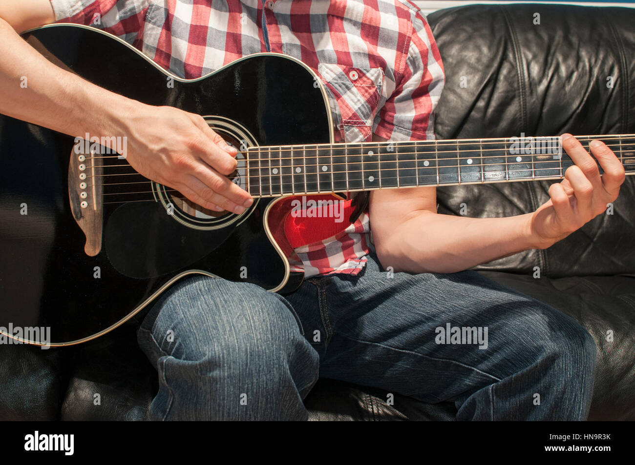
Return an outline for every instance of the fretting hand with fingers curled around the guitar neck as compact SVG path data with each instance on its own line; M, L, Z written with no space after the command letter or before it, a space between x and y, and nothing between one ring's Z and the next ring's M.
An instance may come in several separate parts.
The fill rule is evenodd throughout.
M604 174L571 134L563 134L562 145L573 166L565 179L549 187L549 199L531 216L531 234L541 249L551 246L578 230L606 210L606 204L617 199L624 182L624 167L606 144L591 141L591 153L598 159Z

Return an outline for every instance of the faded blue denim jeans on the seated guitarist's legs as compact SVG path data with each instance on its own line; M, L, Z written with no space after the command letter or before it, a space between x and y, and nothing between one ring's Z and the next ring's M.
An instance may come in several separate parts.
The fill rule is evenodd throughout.
M304 420L319 376L452 401L461 420L582 420L596 363L589 333L551 306L476 272L388 273L374 256L285 297L187 278L138 339L163 420Z

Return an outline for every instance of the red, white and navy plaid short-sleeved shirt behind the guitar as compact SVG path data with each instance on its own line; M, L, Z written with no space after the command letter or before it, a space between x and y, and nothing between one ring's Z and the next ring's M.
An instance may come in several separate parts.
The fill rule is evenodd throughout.
M425 17L401 0L51 0L57 22L103 29L185 79L251 53L291 55L321 77L336 141L434 138L443 65ZM363 213L295 249L305 276L357 274L371 247Z

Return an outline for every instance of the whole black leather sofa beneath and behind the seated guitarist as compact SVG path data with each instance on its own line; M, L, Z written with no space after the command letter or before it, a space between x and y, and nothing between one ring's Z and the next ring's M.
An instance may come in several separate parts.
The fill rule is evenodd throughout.
M437 11L429 22L446 72L439 138L635 133L635 9L475 5ZM547 199L548 187L441 188L439 211L459 214L465 202L469 216L526 213ZM613 215L547 250L478 270L582 323L598 345L589 419L635 419L635 176ZM70 348L0 346L0 374L0 419L143 420L157 390L133 323ZM456 412L450 402L399 395L387 405L386 394L321 379L305 403L316 420L441 420Z

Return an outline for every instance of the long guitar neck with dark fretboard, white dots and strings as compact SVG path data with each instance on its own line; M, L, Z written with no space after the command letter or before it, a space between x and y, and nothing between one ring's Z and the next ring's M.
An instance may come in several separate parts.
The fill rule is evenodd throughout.
M598 139L635 173L635 134L576 136L585 150ZM387 141L250 147L253 197L383 188L556 180L572 159L559 137ZM600 173L603 173L599 167Z

